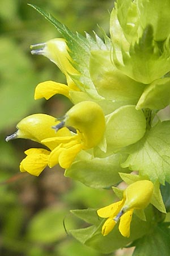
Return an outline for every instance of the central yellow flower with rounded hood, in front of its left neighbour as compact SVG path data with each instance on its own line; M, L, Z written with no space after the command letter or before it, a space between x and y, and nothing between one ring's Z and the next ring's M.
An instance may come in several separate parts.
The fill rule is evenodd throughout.
M58 131L63 126L74 127L76 134L69 137L47 138L41 141L42 143L58 142L58 147L54 148L49 155L49 167L59 163L61 167L67 169L80 150L86 150L99 144L105 130L103 110L95 102L79 102L66 113L64 120L54 126L54 129Z

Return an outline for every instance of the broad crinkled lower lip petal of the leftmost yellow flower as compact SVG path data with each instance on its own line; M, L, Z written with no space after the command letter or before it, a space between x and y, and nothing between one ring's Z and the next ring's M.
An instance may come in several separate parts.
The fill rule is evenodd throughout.
M47 154L31 154L26 156L20 163L20 171L27 171L29 174L39 176L47 165Z

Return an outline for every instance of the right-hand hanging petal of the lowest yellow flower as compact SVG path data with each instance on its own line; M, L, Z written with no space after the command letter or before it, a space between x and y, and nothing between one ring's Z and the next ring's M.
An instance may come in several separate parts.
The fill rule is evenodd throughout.
M133 214L133 209L125 212L120 218L119 231L124 237L130 236L130 222Z

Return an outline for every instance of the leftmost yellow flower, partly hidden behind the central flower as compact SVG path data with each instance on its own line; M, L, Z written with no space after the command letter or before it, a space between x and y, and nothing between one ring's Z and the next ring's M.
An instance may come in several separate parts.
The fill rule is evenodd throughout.
M62 138L71 135L69 129L66 127L56 133L56 131L52 129L52 126L56 125L56 122L59 123L56 118L50 115L29 115L18 123L16 126L17 131L14 134L8 136L6 141L10 141L11 139L16 138L24 138L41 143L41 141L45 138L48 138L48 136L59 136L59 138ZM58 142L52 141L41 144L44 144L49 148L49 150L45 150L44 148L30 148L29 150L26 150L25 154L27 156L20 163L21 172L27 171L29 174L39 176L44 168L48 166L49 154L54 148L58 146Z

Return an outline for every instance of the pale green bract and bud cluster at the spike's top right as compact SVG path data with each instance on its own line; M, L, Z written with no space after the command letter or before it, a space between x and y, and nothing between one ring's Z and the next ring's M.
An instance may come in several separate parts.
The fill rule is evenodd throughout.
M149 84L169 72L168 6L168 0L118 0L112 11L113 62L135 81Z

